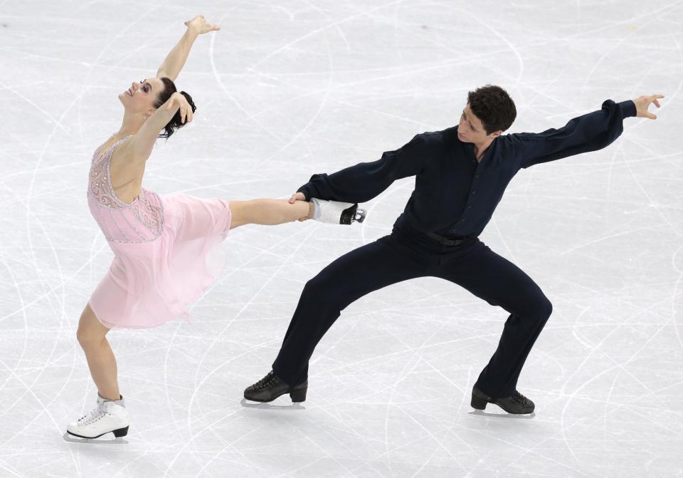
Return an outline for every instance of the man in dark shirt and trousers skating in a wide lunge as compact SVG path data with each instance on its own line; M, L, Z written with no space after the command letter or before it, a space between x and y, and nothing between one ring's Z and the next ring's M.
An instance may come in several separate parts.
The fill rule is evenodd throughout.
M351 302L399 281L434 276L464 287L509 312L498 348L472 388L472 407L494 403L509 413L531 413L534 402L517 391L517 378L552 306L519 267L478 236L505 187L521 168L600 150L623 132L623 118L656 119L663 95L640 96L581 115L559 130L502 135L517 111L499 86L470 91L457 126L423 133L381 159L332 175L313 175L292 199L318 197L366 202L395 180L415 176L415 190L390 235L350 251L309 280L272 370L244 391L270 402L285 393L303 402L313 349Z

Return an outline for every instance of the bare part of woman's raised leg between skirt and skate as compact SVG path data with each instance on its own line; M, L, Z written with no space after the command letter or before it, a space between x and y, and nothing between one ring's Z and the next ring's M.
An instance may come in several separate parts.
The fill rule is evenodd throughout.
M231 201L232 220L230 229L244 224L263 224L272 226L293 222L309 217L311 204L296 201L290 204L287 199L252 199L251 201Z

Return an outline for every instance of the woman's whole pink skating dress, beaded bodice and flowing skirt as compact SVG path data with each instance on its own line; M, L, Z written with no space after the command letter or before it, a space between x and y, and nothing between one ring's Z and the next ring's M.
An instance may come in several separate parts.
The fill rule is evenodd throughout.
M107 328L147 328L174 318L191 321L187 307L221 273L221 242L231 212L222 199L157 194L142 188L130 204L112 187L112 153L97 148L90 166L88 206L115 258L90 297Z

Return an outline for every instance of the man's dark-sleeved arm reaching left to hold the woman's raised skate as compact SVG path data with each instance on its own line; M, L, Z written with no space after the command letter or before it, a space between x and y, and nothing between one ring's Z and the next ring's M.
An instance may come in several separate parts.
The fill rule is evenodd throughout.
M426 136L415 135L398 150L384 152L379 160L361 162L331 175L312 175L309 182L292 194L290 202L295 199L310 200L312 197L354 203L369 201L392 182L418 175L422 171L428 156Z

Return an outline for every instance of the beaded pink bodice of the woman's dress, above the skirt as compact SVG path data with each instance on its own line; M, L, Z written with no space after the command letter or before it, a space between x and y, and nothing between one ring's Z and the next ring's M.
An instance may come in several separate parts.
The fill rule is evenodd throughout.
M117 197L112 187L112 154L129 137L118 140L107 150L99 147L92 155L88 206L107 241L154 241L164 227L164 205L159 195L143 187L139 196L127 204Z

